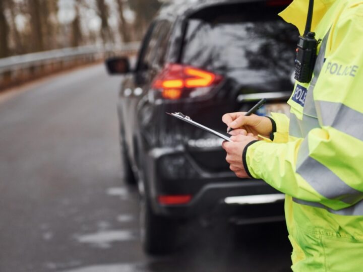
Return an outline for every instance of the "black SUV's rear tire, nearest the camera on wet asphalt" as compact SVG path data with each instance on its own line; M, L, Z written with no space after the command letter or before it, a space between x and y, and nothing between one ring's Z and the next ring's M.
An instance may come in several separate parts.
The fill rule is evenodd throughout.
M172 253L179 245L178 222L155 215L149 201L144 199L140 200L141 240L144 251L151 255Z

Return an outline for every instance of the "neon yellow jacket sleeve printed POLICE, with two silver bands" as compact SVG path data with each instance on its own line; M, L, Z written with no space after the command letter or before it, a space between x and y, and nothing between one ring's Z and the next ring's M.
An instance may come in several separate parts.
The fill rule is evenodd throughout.
M331 29L314 89L320 127L305 139L249 146L244 160L251 176L333 210L363 199L362 44L363 5L358 5L345 10Z

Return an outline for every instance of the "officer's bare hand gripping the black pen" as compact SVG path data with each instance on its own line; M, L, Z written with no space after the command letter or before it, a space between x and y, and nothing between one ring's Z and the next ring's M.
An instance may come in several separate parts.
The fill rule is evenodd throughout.
M248 133L253 133L255 136L258 134L269 138L272 131L271 120L264 116L252 114L245 116L246 112L232 112L226 113L222 117L222 121L230 128L240 128L246 130ZM231 135L241 134L240 131L230 132Z

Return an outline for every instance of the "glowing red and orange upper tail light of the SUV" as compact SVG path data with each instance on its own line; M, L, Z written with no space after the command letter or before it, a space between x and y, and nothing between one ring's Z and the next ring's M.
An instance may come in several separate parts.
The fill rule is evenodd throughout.
M212 72L183 64L167 64L156 77L152 87L161 91L166 99L185 97L196 88L211 87L221 82L222 77Z

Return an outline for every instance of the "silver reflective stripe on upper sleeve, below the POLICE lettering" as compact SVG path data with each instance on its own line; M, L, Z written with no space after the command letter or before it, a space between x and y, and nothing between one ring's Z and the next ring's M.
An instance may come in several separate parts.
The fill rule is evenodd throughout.
M363 141L363 113L342 103L316 101L321 125L332 126Z

